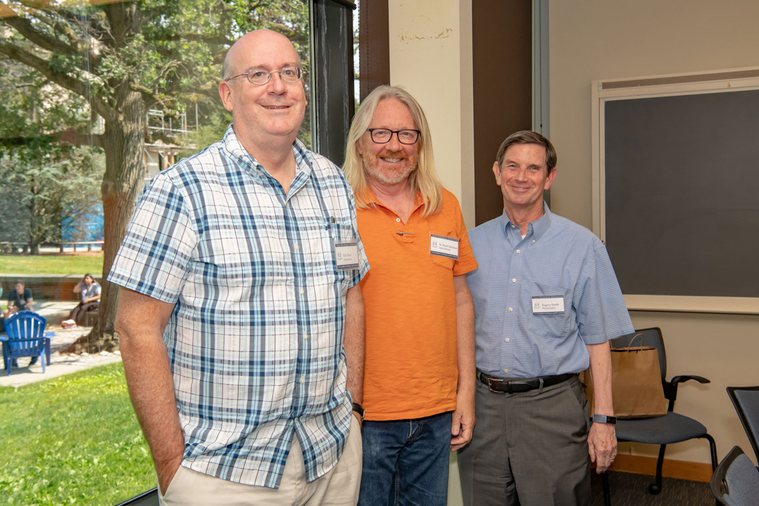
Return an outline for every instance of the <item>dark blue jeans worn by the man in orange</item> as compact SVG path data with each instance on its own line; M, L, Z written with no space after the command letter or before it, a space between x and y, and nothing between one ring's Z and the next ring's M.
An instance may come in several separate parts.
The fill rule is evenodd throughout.
M358 506L446 506L451 413L364 421Z

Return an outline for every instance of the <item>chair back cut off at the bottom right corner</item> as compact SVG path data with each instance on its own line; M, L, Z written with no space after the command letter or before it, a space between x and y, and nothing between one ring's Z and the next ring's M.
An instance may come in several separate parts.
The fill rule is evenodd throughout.
M719 504L756 506L759 501L759 471L738 446L717 466L710 485Z

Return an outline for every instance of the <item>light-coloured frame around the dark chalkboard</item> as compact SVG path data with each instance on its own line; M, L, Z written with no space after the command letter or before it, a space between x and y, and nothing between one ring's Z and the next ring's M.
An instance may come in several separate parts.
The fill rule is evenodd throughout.
M606 240L606 103L702 93L759 90L759 68L632 79L594 80L591 86L593 231ZM641 237L641 244L645 244ZM628 310L759 314L759 297L624 294Z

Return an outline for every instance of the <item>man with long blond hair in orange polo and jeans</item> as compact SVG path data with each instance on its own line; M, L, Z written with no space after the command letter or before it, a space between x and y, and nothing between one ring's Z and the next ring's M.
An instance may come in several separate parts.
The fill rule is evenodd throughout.
M358 504L445 506L449 451L474 426L477 269L455 196L433 165L427 118L379 86L348 133L345 176L371 269L366 316L364 470Z

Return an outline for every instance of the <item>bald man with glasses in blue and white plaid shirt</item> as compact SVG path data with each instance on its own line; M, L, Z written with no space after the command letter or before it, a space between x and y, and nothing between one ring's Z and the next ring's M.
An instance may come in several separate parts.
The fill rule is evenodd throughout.
M150 181L109 276L159 498L355 504L369 266L353 193L295 139L285 36L243 36L222 74L234 123Z

